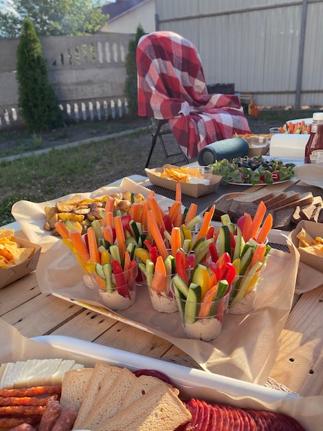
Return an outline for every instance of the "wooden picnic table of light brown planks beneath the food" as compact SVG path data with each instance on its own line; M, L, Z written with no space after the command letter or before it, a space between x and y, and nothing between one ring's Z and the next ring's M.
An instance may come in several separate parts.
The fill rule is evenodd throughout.
M172 191L154 187L149 181L143 185L155 189L156 193L175 197ZM287 185L269 187L283 189ZM301 187L307 191L307 187L297 182L292 182L289 187ZM203 211L214 198L236 190L240 191L241 187L227 188L221 185L216 196L212 193L194 201ZM315 193L321 192L321 189L315 190ZM183 199L183 204L191 201L189 196L183 196ZM15 235L25 238L23 231L17 231ZM279 242L273 245L284 248L284 244ZM282 330L280 350L270 377L299 395L323 395L323 285L296 299ZM192 364L186 353L165 339L54 295L42 293L35 271L0 289L0 317L25 337L65 335L147 357L172 357L173 361L178 359L181 364Z

